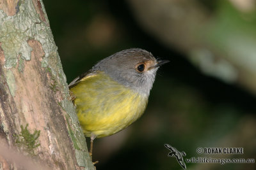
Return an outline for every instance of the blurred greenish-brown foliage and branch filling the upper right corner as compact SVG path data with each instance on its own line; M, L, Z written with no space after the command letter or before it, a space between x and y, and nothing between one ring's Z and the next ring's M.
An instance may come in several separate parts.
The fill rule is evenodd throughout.
M196 0L128 2L145 31L203 73L256 94L255 1L214 1L211 9Z

